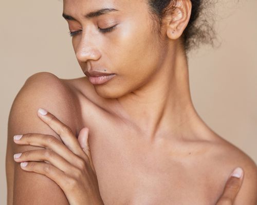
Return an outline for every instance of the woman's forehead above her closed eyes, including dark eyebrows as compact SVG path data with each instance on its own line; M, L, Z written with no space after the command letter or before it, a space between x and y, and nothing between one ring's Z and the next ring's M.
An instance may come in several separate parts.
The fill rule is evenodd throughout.
M136 22L150 22L149 0L63 0L63 17L78 22L94 20L95 17L109 13L119 19ZM104 10L104 11L103 11ZM117 10L111 12L110 10ZM108 14L106 14L108 16ZM97 19L97 18L96 18Z

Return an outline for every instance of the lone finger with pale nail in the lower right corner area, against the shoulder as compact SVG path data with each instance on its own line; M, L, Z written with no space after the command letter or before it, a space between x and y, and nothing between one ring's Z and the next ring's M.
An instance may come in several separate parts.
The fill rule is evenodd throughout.
M240 190L243 182L243 170L236 168L230 175L221 198L216 205L233 205L236 194Z

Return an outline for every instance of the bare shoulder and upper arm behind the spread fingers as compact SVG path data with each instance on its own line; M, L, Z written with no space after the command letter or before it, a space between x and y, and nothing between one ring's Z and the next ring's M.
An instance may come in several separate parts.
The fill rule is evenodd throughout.
M44 108L54 114L76 133L77 122L74 121L76 110L73 103L74 99L69 89L55 75L41 72L29 77L14 99L9 114L8 149L10 150L7 152L6 160L13 160L15 153L44 149L16 145L13 142L14 135L41 133L53 135L61 140L38 117L39 108ZM26 172L21 169L20 163L14 162L13 204L68 204L68 201L57 183L44 175Z

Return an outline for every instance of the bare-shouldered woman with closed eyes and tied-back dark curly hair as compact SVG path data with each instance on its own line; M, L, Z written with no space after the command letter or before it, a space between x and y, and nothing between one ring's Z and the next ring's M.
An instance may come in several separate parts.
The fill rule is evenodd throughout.
M199 6L64 1L86 77L37 73L17 94L8 124L10 204L216 204L236 167L244 181L234 204L256 203L255 163L192 104L187 51ZM39 108L46 111L37 116Z

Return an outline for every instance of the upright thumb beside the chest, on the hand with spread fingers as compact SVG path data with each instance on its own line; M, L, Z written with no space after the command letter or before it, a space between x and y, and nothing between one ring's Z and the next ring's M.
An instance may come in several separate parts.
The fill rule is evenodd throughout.
M85 152L85 154L87 155L91 168L93 170L94 173L96 173L95 167L94 167L94 163L93 163L93 159L91 157L91 152L90 152L90 147L89 147L89 141L88 141L88 134L89 134L89 129L88 128L83 128L80 130L79 136L78 136L78 141L79 144L82 148L82 150Z

